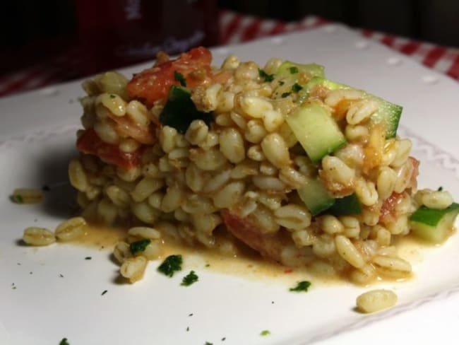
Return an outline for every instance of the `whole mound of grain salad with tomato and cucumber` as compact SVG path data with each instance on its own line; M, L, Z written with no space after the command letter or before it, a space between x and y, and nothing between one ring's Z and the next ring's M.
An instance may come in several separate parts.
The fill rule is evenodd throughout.
M318 64L160 53L131 80L83 83L81 152L69 165L86 221L121 223L121 274L141 279L163 242L366 284L410 276L397 239L440 243L459 204L417 189L402 107L330 81ZM78 222L77 222L78 223Z

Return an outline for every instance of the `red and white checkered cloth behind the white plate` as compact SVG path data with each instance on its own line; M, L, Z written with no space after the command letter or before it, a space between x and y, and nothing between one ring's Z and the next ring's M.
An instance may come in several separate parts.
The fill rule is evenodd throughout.
M266 36L308 30L327 23L330 23L330 21L316 16L307 16L302 21L286 23L222 10L219 16L220 45L230 45ZM359 30L359 32L364 37L376 40L398 52L407 54L425 66L459 81L459 49L441 47L376 31ZM0 96L81 77L77 73L78 69L75 68L77 65L78 49L71 49L46 64L30 66L28 69L3 76L0 78Z

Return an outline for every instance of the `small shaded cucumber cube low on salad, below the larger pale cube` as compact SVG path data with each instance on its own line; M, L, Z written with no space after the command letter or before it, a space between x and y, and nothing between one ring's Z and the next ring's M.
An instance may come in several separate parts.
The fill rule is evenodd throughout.
M304 187L297 189L299 197L313 216L329 209L335 199L320 180L309 178Z

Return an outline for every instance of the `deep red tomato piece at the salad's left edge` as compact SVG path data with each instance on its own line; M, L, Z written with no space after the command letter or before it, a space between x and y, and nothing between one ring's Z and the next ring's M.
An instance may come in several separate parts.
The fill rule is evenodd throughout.
M134 168L141 162L141 151L126 153L117 145L107 144L97 136L94 129L87 129L76 141L78 151L99 157L105 163L118 165L122 168Z

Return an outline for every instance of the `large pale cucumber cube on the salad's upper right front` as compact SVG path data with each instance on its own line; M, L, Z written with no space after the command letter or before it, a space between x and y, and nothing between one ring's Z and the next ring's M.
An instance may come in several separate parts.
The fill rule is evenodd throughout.
M313 163L346 144L335 119L319 103L301 105L286 121Z

